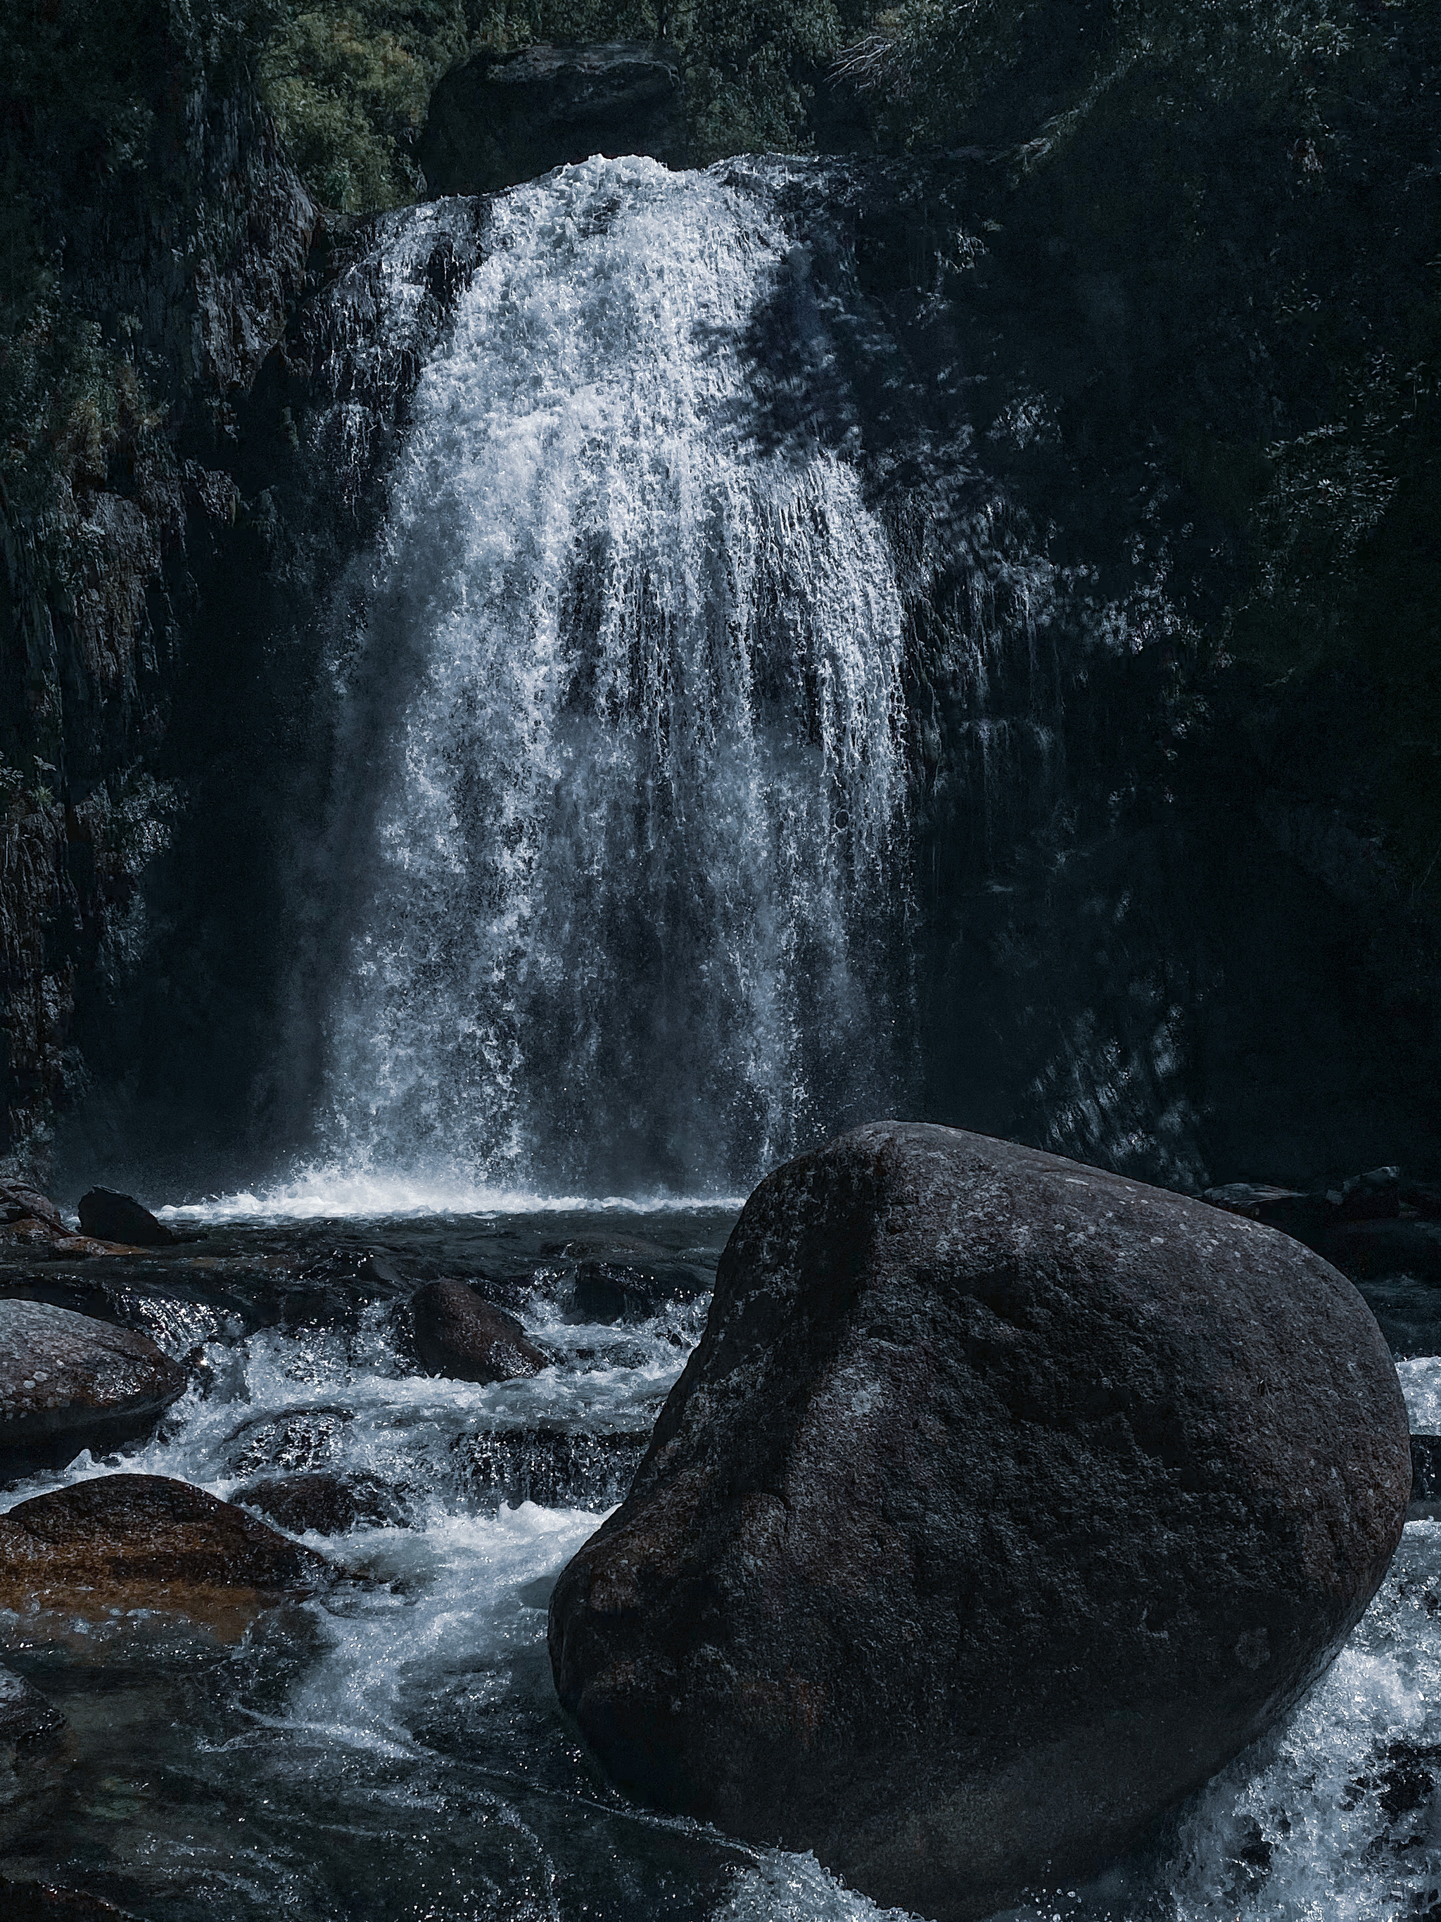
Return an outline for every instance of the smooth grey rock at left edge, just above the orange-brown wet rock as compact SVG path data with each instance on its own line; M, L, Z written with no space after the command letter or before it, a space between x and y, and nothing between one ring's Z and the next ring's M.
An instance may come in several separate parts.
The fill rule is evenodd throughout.
M0 1474L63 1466L148 1434L188 1368L136 1328L0 1301Z

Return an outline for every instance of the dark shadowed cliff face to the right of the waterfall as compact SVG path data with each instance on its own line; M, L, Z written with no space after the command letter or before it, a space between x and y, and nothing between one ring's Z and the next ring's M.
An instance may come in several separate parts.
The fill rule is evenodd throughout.
M1364 21L1320 146L1137 77L797 183L911 557L936 1119L1176 1186L1441 1155L1435 62Z

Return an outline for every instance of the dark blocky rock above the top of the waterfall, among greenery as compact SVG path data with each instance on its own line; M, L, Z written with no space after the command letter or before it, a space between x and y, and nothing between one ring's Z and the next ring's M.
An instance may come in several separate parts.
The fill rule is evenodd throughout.
M476 54L438 83L419 160L432 194L490 194L592 154L684 165L680 63L663 42Z

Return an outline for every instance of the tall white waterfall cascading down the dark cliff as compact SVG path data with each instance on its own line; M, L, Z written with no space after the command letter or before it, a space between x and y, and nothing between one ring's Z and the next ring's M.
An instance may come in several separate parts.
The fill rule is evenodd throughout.
M765 173L498 202L338 667L336 1161L734 1192L895 1101L901 605L853 467L769 431L778 304L824 354Z

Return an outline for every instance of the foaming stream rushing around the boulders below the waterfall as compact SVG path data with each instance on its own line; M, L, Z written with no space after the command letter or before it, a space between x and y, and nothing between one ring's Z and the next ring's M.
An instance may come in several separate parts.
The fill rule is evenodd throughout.
M402 1270L484 1276L559 1359L494 1388L427 1380L382 1301L344 1326L231 1328L208 1343L208 1392L154 1442L10 1491L127 1468L232 1497L261 1474L319 1470L384 1488L392 1520L304 1536L363 1580L269 1611L232 1647L142 1616L6 1618L6 1659L65 1711L69 1749L38 1797L0 1807L4 1868L146 1922L874 1922L809 1857L628 1807L551 1691L551 1582L623 1493L705 1297L642 1324L576 1322L567 1257L544 1249L609 1236L707 1272L730 1219L611 1207L206 1230L213 1261L288 1247L304 1267L346 1242ZM179 1315L167 1340L194 1334ZM1441 1363L1406 1363L1403 1380L1429 1424ZM1282 1730L1105 1885L1014 1914L1441 1922L1439 1568L1441 1524L1410 1524Z

